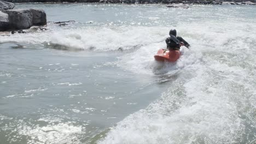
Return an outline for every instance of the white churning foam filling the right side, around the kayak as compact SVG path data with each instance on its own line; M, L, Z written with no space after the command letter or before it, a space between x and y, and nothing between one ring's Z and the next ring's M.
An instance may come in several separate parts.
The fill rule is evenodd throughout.
M253 23L247 25L256 29ZM166 67L167 73L181 68L178 78L159 100L127 116L98 143L253 143L256 137L249 131L256 130L255 31L241 23L190 26L191 31L183 25L178 29L188 35L193 52L185 51ZM149 74L152 67L145 64L152 59L139 54L153 56L153 47L160 46L150 44L125 55L119 66Z

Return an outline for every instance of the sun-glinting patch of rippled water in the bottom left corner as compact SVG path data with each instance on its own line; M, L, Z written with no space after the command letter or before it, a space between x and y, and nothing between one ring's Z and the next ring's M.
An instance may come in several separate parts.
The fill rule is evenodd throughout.
M66 121L56 116L42 116L37 120L30 118L9 118L0 115L2 127L0 130L8 132L5 138L10 143L24 142L28 144L39 143L70 143L80 144L85 137L85 125L75 121ZM1 133L1 132L0 132ZM22 143L23 143L22 142Z

